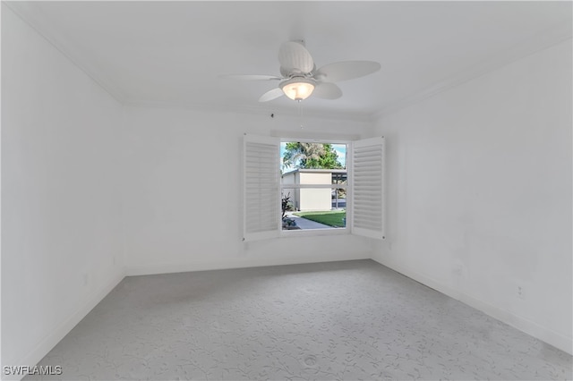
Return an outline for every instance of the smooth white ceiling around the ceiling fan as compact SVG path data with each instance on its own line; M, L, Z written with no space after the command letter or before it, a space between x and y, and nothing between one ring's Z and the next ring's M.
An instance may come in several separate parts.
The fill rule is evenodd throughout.
M372 60L304 112L368 118L571 38L571 2L10 2L126 105L295 112L257 99L278 47L304 39L318 67Z

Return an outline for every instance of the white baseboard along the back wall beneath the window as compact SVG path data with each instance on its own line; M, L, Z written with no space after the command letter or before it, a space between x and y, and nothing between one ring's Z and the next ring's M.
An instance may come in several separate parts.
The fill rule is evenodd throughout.
M225 270L228 268L244 267L264 267L281 265L298 265L304 263L335 262L341 260L371 259L371 252L358 253L353 255L335 256L332 258L309 257L304 258L244 258L243 260L225 260L217 262L189 262L189 263L158 263L142 266L128 266L125 269L125 276L154 275L169 273L186 273L192 271Z

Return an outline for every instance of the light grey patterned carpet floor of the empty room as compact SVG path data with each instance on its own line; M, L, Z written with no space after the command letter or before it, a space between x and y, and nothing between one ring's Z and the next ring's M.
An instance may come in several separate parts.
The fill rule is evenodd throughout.
M372 260L126 277L39 362L69 380L571 379L571 356Z

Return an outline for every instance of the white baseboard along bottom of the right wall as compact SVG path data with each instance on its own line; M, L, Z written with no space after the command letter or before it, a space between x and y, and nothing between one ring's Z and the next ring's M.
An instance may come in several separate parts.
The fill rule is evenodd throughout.
M530 334L535 338L543 341L544 343L551 344L552 346L559 348L561 351L566 351L569 354L573 354L573 338L568 337L564 334L553 331L545 326L540 326L537 323L528 320L526 318L519 317L514 313L506 309L500 309L498 307L492 306L485 301L480 301L474 297L467 295L463 292L459 292L456 289L452 289L445 284L440 284L436 280L415 272L412 269L402 267L396 263L389 260L381 260L380 258L372 258L376 262L383 266L389 267L392 270L398 271L402 275L406 275L409 278L414 279L416 282L425 284L428 287L448 295L450 298L456 299L467 304L470 307L479 309L483 313L496 318L509 326L513 326L518 330Z

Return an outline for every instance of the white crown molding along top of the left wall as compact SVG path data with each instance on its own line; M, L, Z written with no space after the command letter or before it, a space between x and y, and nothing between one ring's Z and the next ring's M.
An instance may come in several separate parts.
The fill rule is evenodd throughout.
M74 45L68 38L65 38L63 34L51 26L43 13L41 13L33 2L3 1L2 4L6 5L22 21L28 24L30 28L36 30L38 34L45 38L53 47L56 47L62 55L76 65L102 89L106 90L117 102L121 104L124 103L124 92L119 89L112 80L109 80L96 65L82 58L81 47Z

